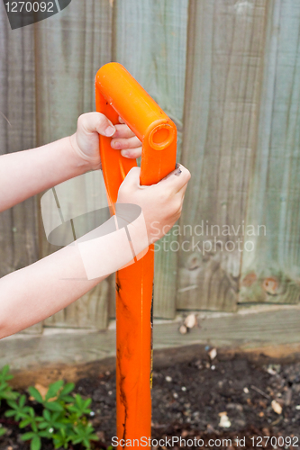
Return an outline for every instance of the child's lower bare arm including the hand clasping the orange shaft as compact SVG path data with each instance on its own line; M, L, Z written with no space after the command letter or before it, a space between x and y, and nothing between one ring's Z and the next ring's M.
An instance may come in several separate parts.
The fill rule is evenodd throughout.
M143 213L142 220L133 222L130 231L136 253L166 234L179 218L189 178L190 174L183 166L158 184L147 187L140 185L138 167L132 168L126 176L119 190L118 202L133 202L141 207ZM147 231L146 245L143 224ZM109 242L106 237L97 240L93 230L86 237L94 237L94 240L80 238L32 266L0 279L0 338L50 317L129 263L132 252L129 251L126 232L108 236ZM84 257L80 247L82 241L92 244L85 250ZM88 280L86 262L87 266L97 267L96 278Z

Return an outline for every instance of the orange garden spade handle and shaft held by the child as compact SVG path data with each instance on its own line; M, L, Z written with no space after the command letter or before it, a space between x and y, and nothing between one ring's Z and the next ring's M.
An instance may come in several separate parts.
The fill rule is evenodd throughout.
M121 116L142 142L141 185L158 183L176 166L177 130L158 103L118 63L101 67L95 76L96 110L114 124ZM100 136L100 154L108 202L114 203L134 159L122 157ZM154 248L116 274L116 401L119 448L135 446L151 433L152 289ZM141 440L141 438L143 438ZM124 439L121 441L121 439ZM121 441L121 443L120 443ZM133 444L132 444L133 445Z

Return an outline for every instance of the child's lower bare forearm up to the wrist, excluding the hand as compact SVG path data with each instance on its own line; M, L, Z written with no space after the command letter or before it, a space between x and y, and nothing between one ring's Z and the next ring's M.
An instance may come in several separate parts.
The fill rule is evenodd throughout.
M109 221L114 227L114 218ZM131 236L135 248L143 250L139 224L132 227ZM66 308L130 261L132 248L125 229L103 235L99 227L32 266L6 275L0 280L0 338Z

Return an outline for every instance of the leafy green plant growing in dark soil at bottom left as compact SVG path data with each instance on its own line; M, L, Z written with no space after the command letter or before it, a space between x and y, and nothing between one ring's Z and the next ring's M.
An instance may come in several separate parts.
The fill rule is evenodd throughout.
M74 383L65 384L62 380L52 383L44 397L35 387L28 388L33 401L42 407L39 416L32 406L26 404L24 394L20 396L9 388L6 382L12 379L12 375L8 372L9 367L5 366L0 373L0 383L5 384L5 389L0 392L6 392L1 398L10 407L5 416L19 422L19 428L31 428L22 435L24 441L31 441L31 450L41 449L41 438L52 440L54 448L68 449L70 442L81 444L88 450L92 448L92 441L98 440L98 437L86 417L91 412L88 408L91 399L83 399L79 394L71 395ZM5 434L4 429L0 428L0 436Z

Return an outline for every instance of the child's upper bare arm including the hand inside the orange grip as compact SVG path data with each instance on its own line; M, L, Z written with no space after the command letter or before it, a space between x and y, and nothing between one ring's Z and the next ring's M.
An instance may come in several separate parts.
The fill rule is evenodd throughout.
M88 112L79 117L74 135L0 157L0 211L100 168L99 134L114 136L112 147L133 152L129 157L141 156L141 142L126 125L114 127L100 112Z

